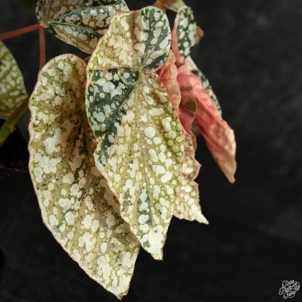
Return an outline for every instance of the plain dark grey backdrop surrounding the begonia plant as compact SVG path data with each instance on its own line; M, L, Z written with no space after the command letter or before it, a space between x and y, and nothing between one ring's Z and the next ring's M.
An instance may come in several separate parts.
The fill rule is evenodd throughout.
M16 0L0 3L0 33L36 23ZM151 4L127 3L130 9ZM302 3L186 3L205 32L192 57L235 131L236 183L228 183L199 137L200 200L210 224L173 218L165 261L141 249L123 300L282 301L283 280L302 282ZM31 93L39 68L38 32L5 42ZM46 49L47 60L64 52L86 56L48 33ZM2 242L8 266L0 301L116 301L53 240L32 191L4 191L1 202L13 195L21 206ZM292 298L301 299L302 290Z

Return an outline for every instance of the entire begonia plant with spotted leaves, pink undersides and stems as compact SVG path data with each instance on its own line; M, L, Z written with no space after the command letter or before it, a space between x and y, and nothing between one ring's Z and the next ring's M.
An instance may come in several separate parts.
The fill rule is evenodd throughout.
M171 30L166 15L175 13ZM182 0L39 0L41 69L27 96L0 42L0 144L29 108L29 171L43 222L80 267L122 298L142 247L157 260L172 216L208 223L195 179L201 134L230 182L234 131L190 56L203 35ZM89 57L44 64L44 28Z

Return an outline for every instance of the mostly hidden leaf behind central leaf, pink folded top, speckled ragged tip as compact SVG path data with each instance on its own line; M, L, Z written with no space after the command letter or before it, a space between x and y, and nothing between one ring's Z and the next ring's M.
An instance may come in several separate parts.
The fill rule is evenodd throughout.
M194 182L200 169L200 164L195 160L196 137L191 132L192 119L195 118L196 100L189 83L188 70L183 68L185 66L177 68L174 62L175 56L170 52L165 65L158 70L158 74L175 106L175 110L183 119L181 119L181 122L184 129L188 127L188 131L185 131L185 155L182 167L181 187L175 201L174 215L180 219L197 220L199 222L208 223L201 213L198 184ZM180 81L179 85L178 81ZM181 99L182 101L180 101ZM186 114L187 111L191 111L185 106L190 100L195 104L195 111L193 110L191 112L193 116L190 116L190 114L187 116ZM182 102L183 105L181 105ZM189 120L189 122L187 120Z

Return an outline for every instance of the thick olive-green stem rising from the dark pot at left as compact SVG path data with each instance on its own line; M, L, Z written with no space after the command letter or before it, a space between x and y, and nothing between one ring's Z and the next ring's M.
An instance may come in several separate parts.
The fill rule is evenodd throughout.
M11 114L11 116L5 121L0 128L0 148L9 135L14 132L17 123L28 111L29 96L23 101L23 103Z

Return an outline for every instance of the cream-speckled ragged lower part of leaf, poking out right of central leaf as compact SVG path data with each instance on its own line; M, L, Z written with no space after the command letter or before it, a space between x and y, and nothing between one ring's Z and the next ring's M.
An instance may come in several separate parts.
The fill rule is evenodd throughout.
M201 165L195 159L196 138L185 134L185 156L182 168L182 180L174 207L174 215L180 219L197 220L208 224L201 213L198 184L194 181Z

